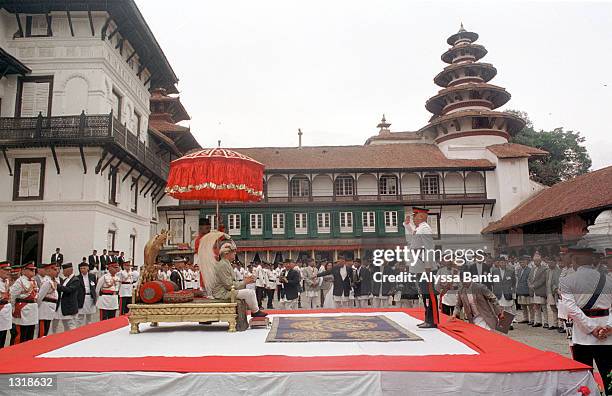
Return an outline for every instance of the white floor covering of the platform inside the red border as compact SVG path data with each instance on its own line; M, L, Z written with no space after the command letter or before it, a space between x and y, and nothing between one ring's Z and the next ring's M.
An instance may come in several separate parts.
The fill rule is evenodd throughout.
M437 329L421 330L420 321L403 312L298 314L291 316L384 315L423 341L398 342L283 342L266 343L268 329L228 333L220 326L197 323L142 324L140 334L129 334L129 327L76 342L45 353L41 357L144 357L144 356L350 356L350 355L472 355L477 352ZM270 315L272 319L274 315ZM222 325L223 326L223 325ZM227 327L227 325L225 325ZM171 340L169 339L171 337ZM168 344L172 348L168 348Z

